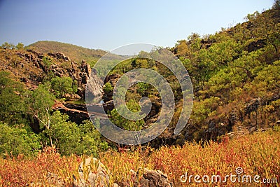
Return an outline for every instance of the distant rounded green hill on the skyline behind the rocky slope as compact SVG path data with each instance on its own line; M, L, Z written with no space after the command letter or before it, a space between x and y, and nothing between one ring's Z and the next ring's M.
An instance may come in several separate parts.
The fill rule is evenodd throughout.
M82 60L92 64L96 62L102 55L106 54L104 50L94 50L89 48L83 48L69 43L62 43L58 41L37 41L28 46L29 48L36 50L39 53L64 53L64 55L71 58L78 63Z

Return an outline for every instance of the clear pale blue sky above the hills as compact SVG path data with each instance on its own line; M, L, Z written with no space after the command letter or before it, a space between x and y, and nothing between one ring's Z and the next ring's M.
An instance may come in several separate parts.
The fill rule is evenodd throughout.
M172 47L192 32L214 34L273 0L0 0L0 43L39 40L112 50L128 43Z

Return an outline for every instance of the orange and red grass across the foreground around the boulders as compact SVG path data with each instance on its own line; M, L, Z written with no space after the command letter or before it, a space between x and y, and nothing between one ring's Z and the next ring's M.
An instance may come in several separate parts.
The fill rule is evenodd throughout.
M111 171L112 181L125 180L132 183L130 169L137 171L139 167L158 169L168 174L174 186L279 186L280 182L280 131L258 132L229 139L223 137L221 143L214 141L201 146L186 143L183 147L164 146L159 150L137 148L135 151L107 151L101 153L99 159ZM23 156L0 158L0 186L51 186L48 172L71 186L73 175L78 176L78 164L82 157L61 156L54 148L45 148L34 158ZM252 183L232 183L230 178L223 183L226 175L235 175L236 168L241 167L240 174L251 175ZM186 183L180 181L182 175L188 173ZM189 176L193 175L193 178ZM200 175L201 183L195 183L194 176ZM202 176L209 176L209 183L203 183ZM221 183L211 183L212 175L220 175ZM253 176L262 179L276 179L278 183L255 183ZM184 178L182 178L184 179ZM207 178L204 177L207 181ZM270 180L271 182L273 180ZM275 182L275 180L274 180Z

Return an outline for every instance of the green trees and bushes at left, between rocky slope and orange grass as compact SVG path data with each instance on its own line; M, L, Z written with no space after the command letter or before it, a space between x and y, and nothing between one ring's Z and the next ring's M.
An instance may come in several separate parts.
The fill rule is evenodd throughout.
M108 147L90 120L77 125L69 121L66 114L52 111L55 99L75 90L71 78L51 78L36 90L27 90L22 83L10 78L10 74L1 71L0 86L2 156L7 153L32 155L44 146L55 146L62 155L97 155ZM31 127L35 119L40 123L36 133Z

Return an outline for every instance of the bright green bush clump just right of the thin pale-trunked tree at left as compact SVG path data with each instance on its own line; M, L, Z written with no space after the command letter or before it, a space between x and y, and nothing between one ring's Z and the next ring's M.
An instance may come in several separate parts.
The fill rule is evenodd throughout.
M59 111L52 113L50 127L43 133L52 140L48 144L55 146L62 155L76 153L97 156L97 153L109 148L90 120L78 126L69 121L69 116Z

